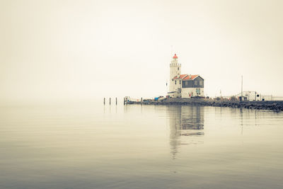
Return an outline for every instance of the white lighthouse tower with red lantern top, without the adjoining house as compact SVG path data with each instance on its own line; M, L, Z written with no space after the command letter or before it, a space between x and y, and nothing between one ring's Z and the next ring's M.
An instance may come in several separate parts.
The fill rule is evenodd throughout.
M178 63L178 57L175 54L171 64L170 64L170 82L169 82L169 96L173 96L175 92L177 92L178 87L177 84L175 84L175 80L173 79L175 76L180 76L181 73L181 64Z

